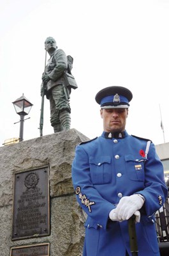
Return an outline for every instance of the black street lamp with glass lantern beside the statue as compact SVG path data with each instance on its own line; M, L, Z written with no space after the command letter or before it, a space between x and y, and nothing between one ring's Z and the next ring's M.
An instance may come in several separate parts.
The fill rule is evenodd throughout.
M33 104L26 99L24 96L24 93L20 98L17 100L13 101L13 106L15 108L15 111L17 112L18 115L20 115L20 134L19 134L19 141L23 141L23 134L24 134L24 120L29 119L26 118L24 119L24 116L29 114L29 111L31 110ZM16 123L15 123L16 124Z

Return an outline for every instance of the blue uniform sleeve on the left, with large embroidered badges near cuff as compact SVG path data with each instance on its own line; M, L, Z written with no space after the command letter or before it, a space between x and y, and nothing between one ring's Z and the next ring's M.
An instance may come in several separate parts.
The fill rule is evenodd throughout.
M105 200L91 182L89 156L82 146L77 146L72 164L72 180L77 200L82 209L99 225L106 228L109 212L115 208Z

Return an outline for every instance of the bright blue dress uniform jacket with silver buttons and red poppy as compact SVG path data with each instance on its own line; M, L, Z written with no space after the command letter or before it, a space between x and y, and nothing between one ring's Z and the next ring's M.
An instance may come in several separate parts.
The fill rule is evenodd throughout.
M109 212L122 196L140 193L145 197L140 223L136 224L138 256L159 256L154 213L168 193L163 165L151 143L130 136L98 138L81 143L72 164L77 200L87 213L84 256L125 256L129 248L128 221L111 221Z

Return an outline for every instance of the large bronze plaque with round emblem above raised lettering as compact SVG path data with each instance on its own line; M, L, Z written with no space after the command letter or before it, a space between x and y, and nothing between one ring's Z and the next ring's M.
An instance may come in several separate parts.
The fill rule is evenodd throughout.
M48 168L15 173L12 240L48 236Z

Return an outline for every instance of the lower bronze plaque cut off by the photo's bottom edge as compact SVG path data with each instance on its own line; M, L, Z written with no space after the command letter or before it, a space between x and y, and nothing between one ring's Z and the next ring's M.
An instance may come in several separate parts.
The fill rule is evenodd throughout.
M49 243L18 246L11 248L10 256L48 256Z

